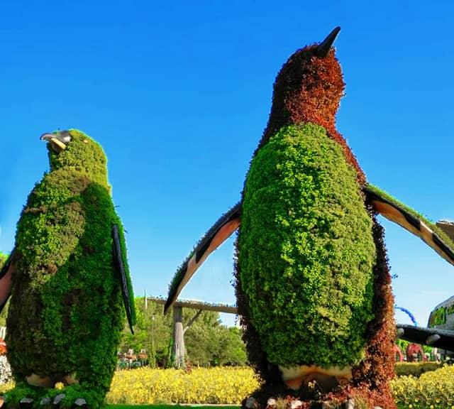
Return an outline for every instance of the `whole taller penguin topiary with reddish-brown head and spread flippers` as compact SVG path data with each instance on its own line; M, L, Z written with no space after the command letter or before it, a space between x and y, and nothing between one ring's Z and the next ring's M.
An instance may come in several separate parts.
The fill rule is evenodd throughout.
M166 310L233 231L236 297L250 362L265 380L248 407L300 398L304 408L393 409L395 324L383 214L450 263L453 244L376 187L336 130L345 87L331 45L297 50L277 75L267 128L242 200L197 244ZM443 237L443 238L442 238Z

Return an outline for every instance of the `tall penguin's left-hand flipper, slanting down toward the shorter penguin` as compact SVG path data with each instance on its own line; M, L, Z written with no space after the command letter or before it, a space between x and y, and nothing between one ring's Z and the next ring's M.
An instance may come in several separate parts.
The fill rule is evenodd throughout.
M211 252L221 246L228 237L233 234L240 226L241 203L237 203L226 214L218 219L218 221L209 229L209 231L201 238L195 249L189 254L187 259L182 263L177 273L170 283L169 295L165 302L164 312L167 312L169 307L177 300L184 285L194 275L197 268L201 266Z

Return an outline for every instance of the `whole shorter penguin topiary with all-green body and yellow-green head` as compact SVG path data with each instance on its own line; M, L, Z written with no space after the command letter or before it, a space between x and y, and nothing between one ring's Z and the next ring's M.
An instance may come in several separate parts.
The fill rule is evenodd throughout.
M131 330L135 320L123 227L101 146L74 129L41 139L50 172L28 196L1 274L11 279L6 343L17 381L5 399L9 408L23 398L98 408L116 368L123 303Z

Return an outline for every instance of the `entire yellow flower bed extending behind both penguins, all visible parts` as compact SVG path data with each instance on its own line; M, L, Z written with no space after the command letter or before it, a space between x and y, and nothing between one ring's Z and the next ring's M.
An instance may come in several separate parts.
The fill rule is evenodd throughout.
M13 383L0 386L4 393ZM157 403L209 403L239 405L260 386L248 367L217 366L179 369L140 368L117 371L107 402L140 405ZM400 409L454 409L454 366L422 373L419 378L400 376L392 381L394 400Z

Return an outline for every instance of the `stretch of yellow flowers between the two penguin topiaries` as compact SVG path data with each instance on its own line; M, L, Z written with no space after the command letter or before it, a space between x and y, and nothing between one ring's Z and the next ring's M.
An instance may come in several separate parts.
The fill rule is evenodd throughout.
M111 404L225 403L238 405L260 385L248 367L117 371L107 395Z

